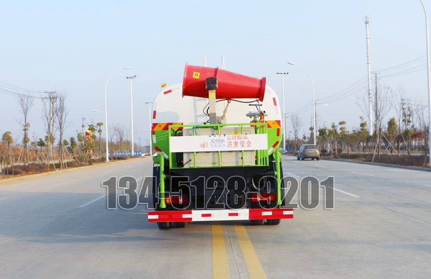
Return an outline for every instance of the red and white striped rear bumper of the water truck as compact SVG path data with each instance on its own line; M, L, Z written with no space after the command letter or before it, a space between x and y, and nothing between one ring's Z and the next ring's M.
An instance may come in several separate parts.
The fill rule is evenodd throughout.
M148 222L291 219L292 208L149 211Z

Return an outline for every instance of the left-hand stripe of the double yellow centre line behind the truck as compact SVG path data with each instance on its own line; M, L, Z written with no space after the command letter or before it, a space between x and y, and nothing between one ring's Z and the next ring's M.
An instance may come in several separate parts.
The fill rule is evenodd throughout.
M226 255L221 225L211 225L211 235L213 241L213 278L229 279L228 256Z

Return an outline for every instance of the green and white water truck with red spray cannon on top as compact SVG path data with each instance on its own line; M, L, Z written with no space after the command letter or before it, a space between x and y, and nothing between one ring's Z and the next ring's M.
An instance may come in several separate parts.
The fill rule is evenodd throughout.
M280 104L265 78L186 64L183 83L158 93L152 118L149 222L293 218L283 207Z

